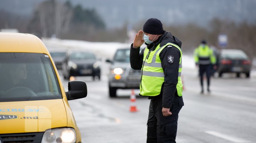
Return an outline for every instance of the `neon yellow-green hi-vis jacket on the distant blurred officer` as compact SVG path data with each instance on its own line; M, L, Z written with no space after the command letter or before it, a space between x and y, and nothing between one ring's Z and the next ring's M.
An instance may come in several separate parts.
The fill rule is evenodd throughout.
M213 50L209 48L209 46L205 45L199 46L194 51L194 60L197 64L207 65L207 64L215 64L216 57L213 54Z

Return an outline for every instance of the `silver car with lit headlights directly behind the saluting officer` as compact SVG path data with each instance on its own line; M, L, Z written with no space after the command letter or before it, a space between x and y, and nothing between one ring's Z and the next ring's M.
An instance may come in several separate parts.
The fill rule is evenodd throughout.
M141 70L134 70L130 67L130 48L117 49L111 63L108 76L109 96L116 97L117 89L139 88Z

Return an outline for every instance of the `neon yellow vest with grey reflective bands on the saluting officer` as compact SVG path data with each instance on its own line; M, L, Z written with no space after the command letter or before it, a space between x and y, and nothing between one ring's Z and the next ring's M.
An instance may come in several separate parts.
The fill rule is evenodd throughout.
M161 92L162 84L164 83L164 70L162 69L161 59L159 57L160 52L167 48L167 45L171 45L172 48L178 48L180 50L180 62L178 69L178 83L176 86L178 96L182 96L182 52L181 48L173 43L167 43L160 47L160 44L154 51L149 51L146 47L144 50L143 65L142 65L142 77L140 81L140 95L142 96L157 96Z

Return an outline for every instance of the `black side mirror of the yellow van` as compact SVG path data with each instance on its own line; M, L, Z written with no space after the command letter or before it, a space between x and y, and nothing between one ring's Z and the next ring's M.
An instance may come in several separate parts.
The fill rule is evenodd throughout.
M87 86L84 81L74 80L68 83L68 92L66 97L68 100L84 98L87 96Z

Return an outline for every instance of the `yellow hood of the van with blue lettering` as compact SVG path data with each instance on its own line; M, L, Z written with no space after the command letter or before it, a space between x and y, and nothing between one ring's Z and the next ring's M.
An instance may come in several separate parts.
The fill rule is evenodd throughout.
M0 102L2 133L44 132L67 125L62 99Z

